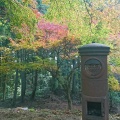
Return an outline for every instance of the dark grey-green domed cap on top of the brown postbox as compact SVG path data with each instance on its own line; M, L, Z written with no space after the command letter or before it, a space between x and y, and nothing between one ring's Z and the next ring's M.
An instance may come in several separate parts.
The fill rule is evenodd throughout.
M79 48L80 55L108 55L109 52L110 47L99 43L91 43Z

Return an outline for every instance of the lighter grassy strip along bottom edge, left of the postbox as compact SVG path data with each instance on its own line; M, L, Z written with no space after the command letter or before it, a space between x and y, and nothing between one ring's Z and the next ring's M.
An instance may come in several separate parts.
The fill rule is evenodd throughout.
M78 111L0 109L0 120L80 120Z

